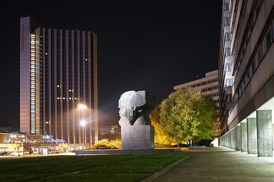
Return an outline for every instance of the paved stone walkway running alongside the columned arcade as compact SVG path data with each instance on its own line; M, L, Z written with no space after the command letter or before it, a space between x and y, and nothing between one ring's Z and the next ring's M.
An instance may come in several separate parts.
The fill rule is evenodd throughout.
M191 150L195 154L152 182L274 181L274 157L257 157L225 147Z

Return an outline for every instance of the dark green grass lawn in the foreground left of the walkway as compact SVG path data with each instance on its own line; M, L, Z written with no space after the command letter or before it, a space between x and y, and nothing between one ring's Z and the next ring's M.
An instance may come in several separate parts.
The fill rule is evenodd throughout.
M47 156L0 162L0 181L138 182L191 152Z

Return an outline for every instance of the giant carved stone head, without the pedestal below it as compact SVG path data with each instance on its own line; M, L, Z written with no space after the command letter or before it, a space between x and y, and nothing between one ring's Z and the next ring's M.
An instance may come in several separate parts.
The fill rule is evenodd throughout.
M156 96L134 90L125 92L119 99L119 125L150 125L149 114L156 106Z

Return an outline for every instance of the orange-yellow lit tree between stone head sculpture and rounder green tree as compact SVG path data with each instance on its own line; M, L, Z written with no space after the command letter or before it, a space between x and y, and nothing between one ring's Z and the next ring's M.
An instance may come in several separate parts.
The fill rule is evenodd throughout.
M172 144L174 145L175 140L168 137L160 125L160 107L157 105L154 110L151 111L149 118L151 120L151 125L154 126L154 130L156 135L154 137L155 144L159 147L170 147Z

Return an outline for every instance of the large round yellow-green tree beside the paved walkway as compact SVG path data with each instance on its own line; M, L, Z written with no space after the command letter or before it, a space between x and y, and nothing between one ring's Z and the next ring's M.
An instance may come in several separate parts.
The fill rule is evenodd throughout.
M160 105L160 125L163 132L176 142L210 139L217 120L217 106L200 90L184 88L169 95Z

